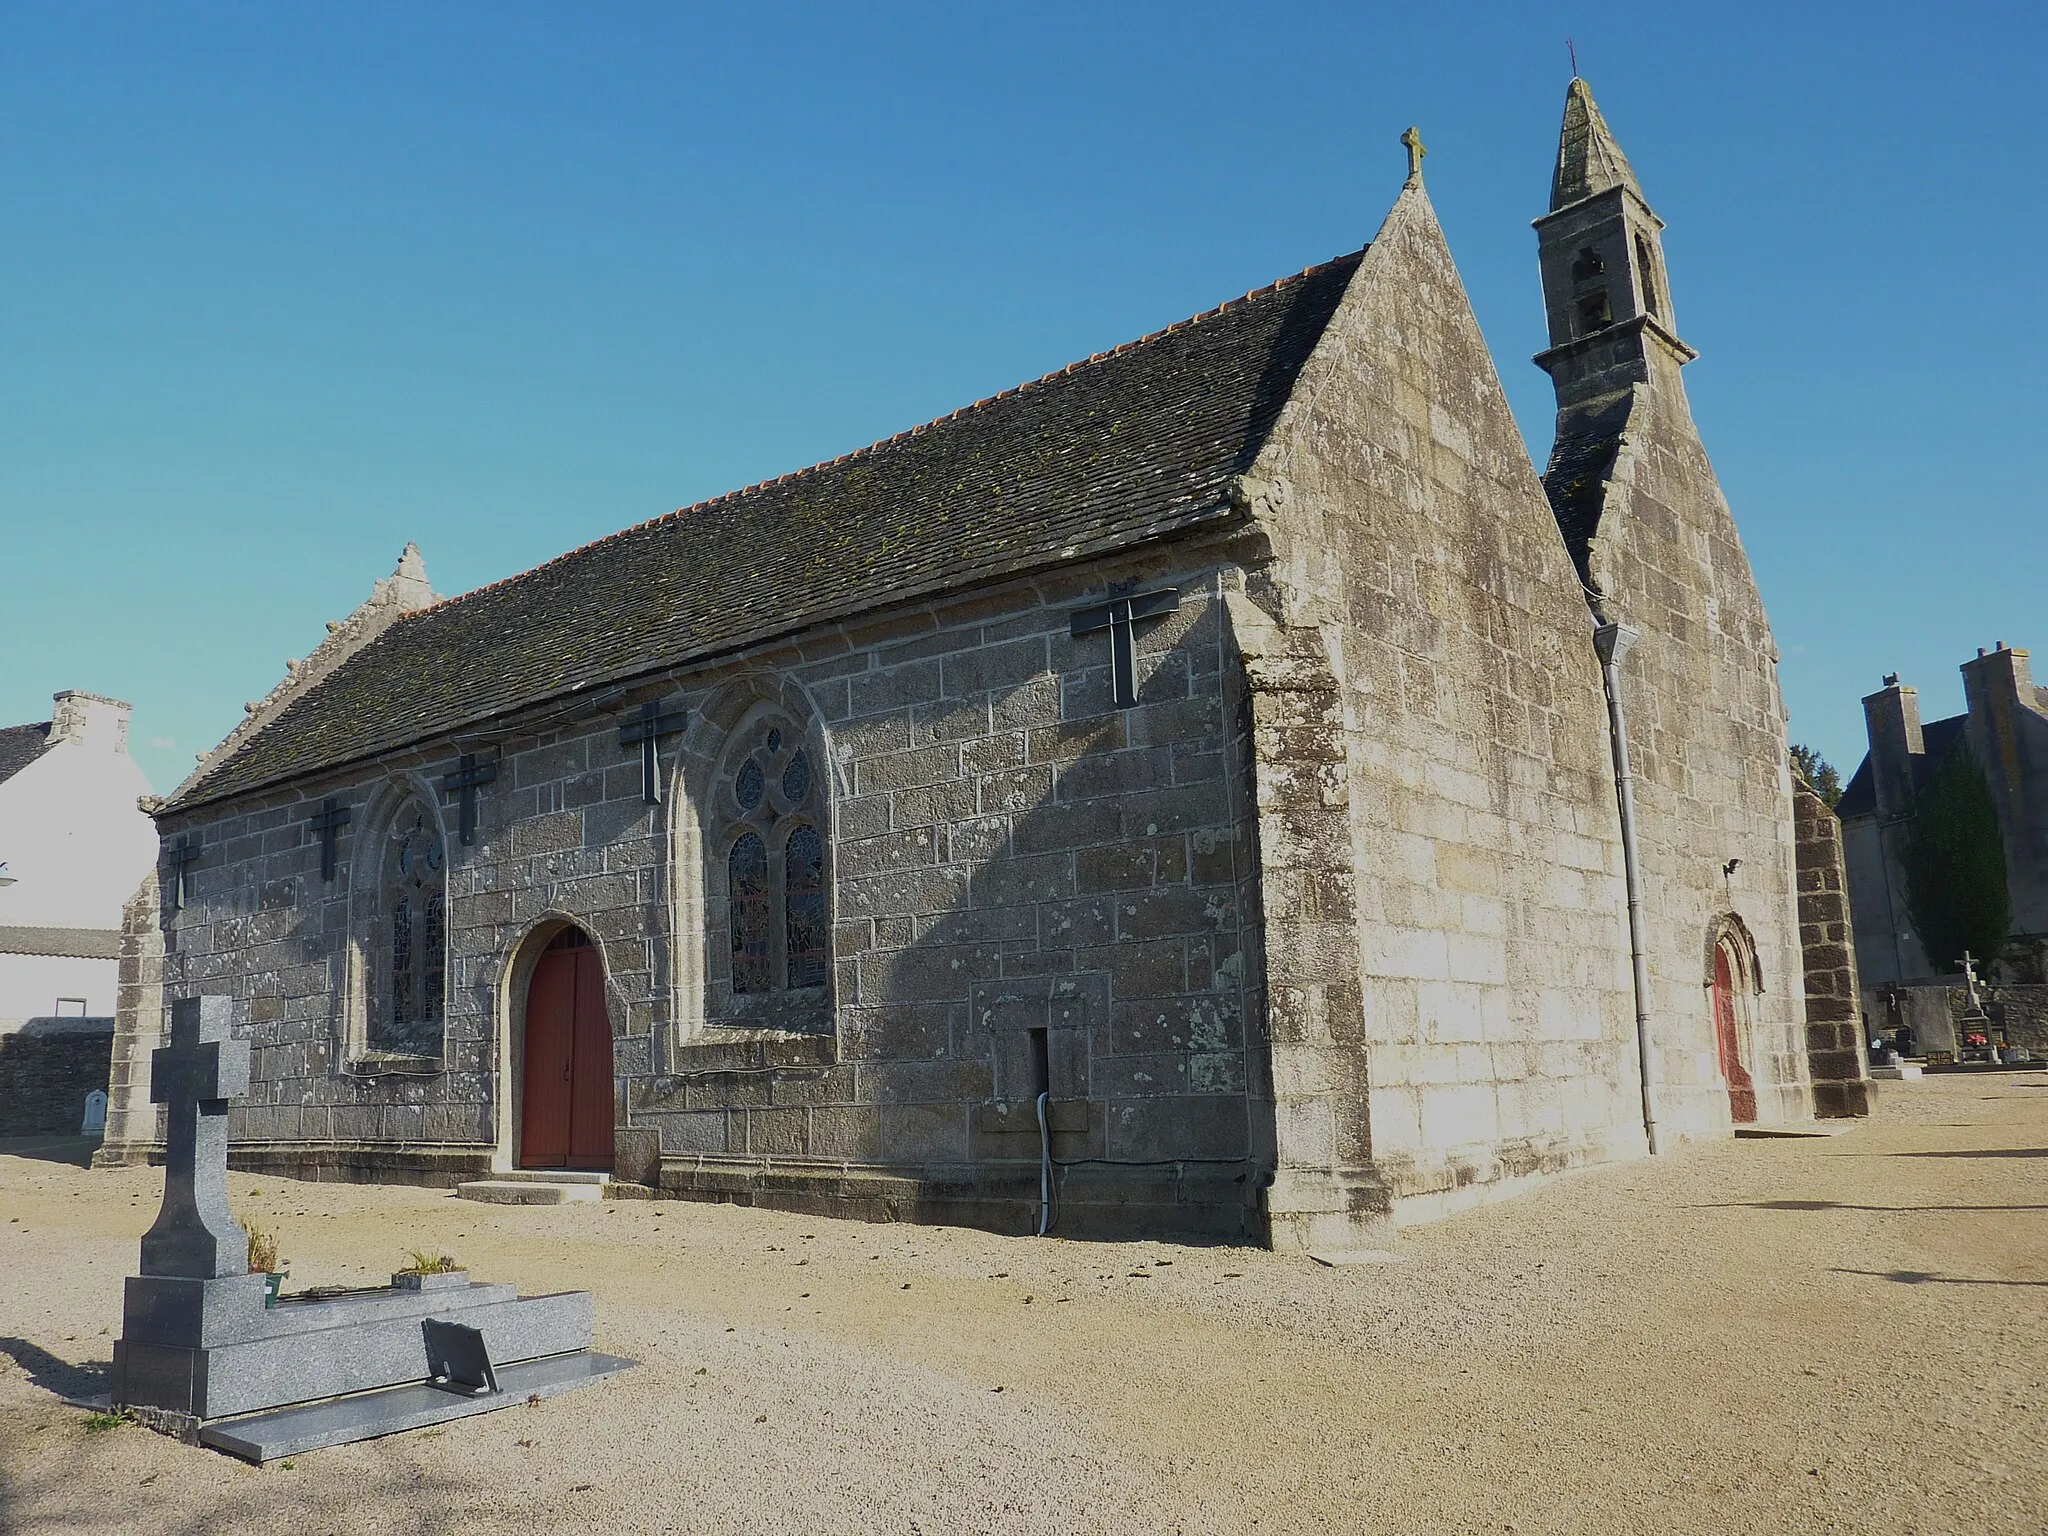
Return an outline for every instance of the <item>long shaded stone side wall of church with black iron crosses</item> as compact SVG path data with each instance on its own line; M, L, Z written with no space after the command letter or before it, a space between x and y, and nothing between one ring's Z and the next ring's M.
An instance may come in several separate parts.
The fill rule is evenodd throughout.
M1176 584L1182 606L1143 629L1141 698L1116 709L1108 637L1071 637L1069 612L1126 578ZM166 901L166 993L233 995L254 1047L238 1165L428 1184L510 1165L524 973L573 922L604 961L621 1178L1024 1229L1044 1030L1059 1231L1257 1235L1233 586L1214 551L1079 565L166 819L203 848L188 903ZM748 698L803 715L831 768L825 1034L702 1022L721 961L694 827ZM662 807L618 743L645 700L690 721ZM457 752L500 754L467 848L436 788ZM362 1030L369 893L406 795L446 831L438 1059L369 1051ZM326 797L352 817L330 881L309 827Z

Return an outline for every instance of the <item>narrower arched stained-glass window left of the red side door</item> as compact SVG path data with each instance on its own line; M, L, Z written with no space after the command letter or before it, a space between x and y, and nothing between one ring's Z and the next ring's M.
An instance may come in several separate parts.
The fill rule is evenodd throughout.
M442 993L449 971L449 850L440 823L408 803L391 821L379 901L377 1004L369 1047L416 1057L440 1055Z

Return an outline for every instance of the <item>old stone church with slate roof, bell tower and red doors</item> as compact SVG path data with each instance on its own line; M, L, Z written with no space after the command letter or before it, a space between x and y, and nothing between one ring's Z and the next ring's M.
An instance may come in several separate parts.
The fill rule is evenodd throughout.
M1294 1249L1810 1116L1663 225L1575 80L1538 475L1407 145L1163 332L457 598L408 549L158 809L127 1059L231 995L299 1178Z

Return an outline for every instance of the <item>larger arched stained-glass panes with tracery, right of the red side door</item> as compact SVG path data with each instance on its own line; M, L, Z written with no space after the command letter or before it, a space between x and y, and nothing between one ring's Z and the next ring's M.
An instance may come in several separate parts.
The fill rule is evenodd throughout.
M725 868L727 1022L817 1028L829 1020L825 774L803 735L745 727L713 786Z

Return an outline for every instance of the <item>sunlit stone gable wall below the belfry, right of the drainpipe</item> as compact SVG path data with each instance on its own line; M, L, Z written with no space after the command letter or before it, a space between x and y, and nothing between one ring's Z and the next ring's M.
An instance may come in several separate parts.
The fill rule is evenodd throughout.
M1761 1120L1812 1114L1778 645L1700 444L1677 365L1638 385L1591 545L1593 584L1640 631L1622 662L1636 772L1659 1126L1729 1124L1712 1018L1712 936L1755 942L1743 1063ZM1733 870L1729 860L1741 860Z

